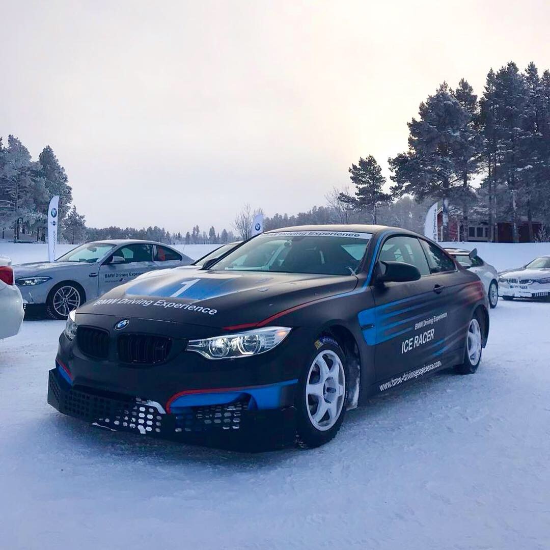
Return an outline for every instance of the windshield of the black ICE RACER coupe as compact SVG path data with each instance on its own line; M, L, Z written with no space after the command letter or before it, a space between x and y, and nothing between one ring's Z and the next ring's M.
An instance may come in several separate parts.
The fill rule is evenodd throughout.
M265 233L230 252L212 269L349 275L359 267L370 238L370 233L344 231Z

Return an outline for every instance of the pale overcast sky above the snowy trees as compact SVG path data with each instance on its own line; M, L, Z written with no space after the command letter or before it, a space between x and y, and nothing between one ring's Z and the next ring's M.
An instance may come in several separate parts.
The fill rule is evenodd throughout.
M0 0L0 135L53 147L89 226L230 228L324 204L419 103L550 68L550 2Z

